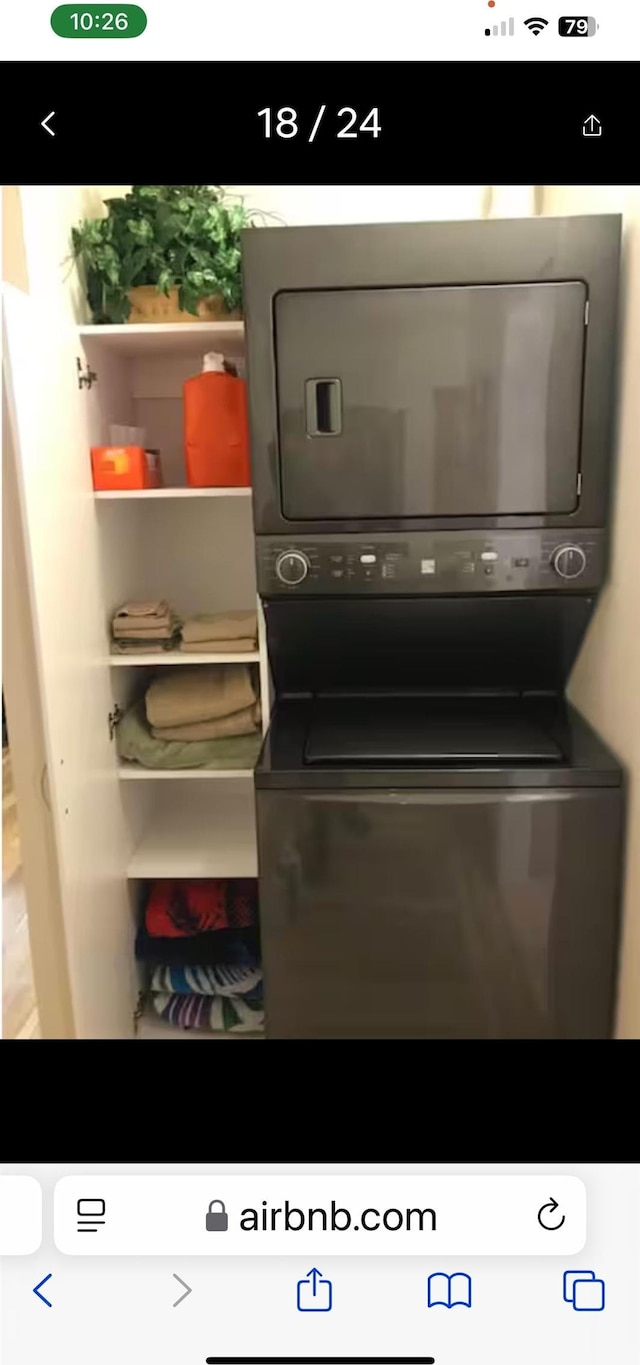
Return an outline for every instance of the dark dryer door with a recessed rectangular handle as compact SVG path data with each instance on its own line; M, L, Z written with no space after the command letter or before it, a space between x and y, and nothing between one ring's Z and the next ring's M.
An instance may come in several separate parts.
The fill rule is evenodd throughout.
M581 281L274 300L292 521L572 513Z

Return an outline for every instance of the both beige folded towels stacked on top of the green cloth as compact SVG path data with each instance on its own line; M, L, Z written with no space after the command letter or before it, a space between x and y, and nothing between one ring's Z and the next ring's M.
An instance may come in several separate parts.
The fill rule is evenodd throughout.
M154 740L218 740L254 734L261 708L252 670L244 663L168 669L145 698Z

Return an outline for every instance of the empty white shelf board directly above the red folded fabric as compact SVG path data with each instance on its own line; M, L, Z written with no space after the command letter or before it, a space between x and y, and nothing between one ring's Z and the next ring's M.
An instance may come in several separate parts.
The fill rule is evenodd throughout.
M128 864L139 880L177 876L258 876L254 793L214 804L160 807Z

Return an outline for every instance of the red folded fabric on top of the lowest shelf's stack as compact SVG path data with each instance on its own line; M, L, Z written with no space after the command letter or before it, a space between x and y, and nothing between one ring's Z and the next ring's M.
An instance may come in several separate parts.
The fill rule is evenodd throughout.
M258 883L239 878L154 882L145 925L154 938L191 938L212 930L240 930L257 923Z

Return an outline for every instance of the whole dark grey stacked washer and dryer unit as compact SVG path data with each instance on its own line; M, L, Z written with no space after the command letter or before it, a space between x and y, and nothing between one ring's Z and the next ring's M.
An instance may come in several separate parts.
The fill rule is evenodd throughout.
M244 238L269 1037L613 1031L618 217Z

